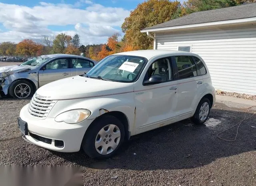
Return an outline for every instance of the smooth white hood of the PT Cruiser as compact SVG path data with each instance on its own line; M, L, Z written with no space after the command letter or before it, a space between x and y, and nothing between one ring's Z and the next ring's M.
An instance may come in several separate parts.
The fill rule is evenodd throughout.
M101 97L133 91L134 83L120 83L74 76L46 84L36 91L36 95L42 96L42 99L65 100Z

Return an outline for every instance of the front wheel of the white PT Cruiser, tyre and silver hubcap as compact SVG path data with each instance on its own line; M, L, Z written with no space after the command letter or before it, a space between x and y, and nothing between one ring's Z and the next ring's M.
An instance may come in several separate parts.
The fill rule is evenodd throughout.
M114 156L124 141L124 125L111 115L103 116L91 125L82 142L84 152L97 159Z

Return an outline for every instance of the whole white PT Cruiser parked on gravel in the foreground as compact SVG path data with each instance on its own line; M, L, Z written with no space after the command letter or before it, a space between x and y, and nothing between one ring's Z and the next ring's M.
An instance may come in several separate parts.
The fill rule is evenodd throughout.
M133 135L187 118L204 123L214 102L200 56L129 51L104 58L83 76L40 87L20 111L18 126L38 146L109 158Z

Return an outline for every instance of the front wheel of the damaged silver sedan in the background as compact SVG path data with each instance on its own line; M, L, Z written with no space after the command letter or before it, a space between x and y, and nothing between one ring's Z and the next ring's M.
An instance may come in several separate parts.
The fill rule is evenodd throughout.
M12 82L9 88L9 94L14 98L24 99L32 96L33 93L33 85L23 79Z

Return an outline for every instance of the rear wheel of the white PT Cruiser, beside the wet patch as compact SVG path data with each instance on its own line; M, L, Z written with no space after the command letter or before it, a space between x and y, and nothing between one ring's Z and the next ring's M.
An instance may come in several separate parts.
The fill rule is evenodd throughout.
M201 99L196 108L194 116L191 118L194 124L201 125L206 122L210 114L210 101L207 98Z

